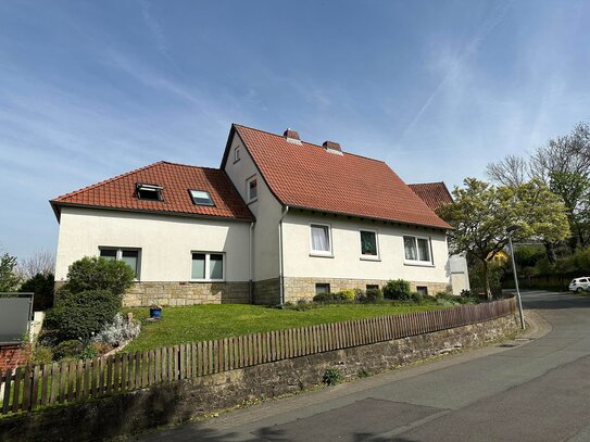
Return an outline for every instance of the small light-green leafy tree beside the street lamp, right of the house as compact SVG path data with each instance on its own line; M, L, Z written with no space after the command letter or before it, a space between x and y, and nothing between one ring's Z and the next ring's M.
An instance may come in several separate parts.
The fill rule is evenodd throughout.
M481 263L488 298L489 264L509 243L507 227L520 227L513 232L516 242L531 238L556 241L569 236L563 202L539 179L495 187L466 178L464 188L455 187L453 197L454 202L441 206L438 214L454 228L449 232L451 251L467 252Z

